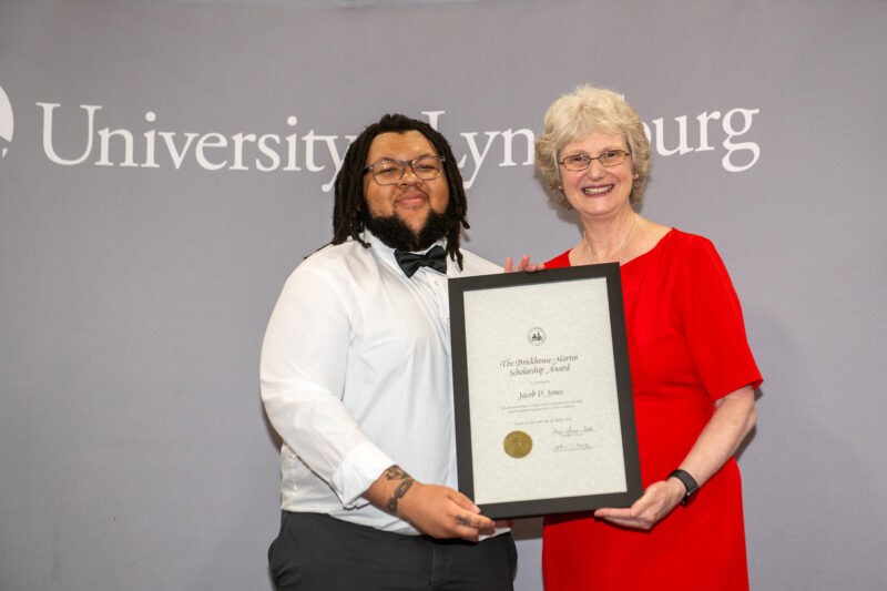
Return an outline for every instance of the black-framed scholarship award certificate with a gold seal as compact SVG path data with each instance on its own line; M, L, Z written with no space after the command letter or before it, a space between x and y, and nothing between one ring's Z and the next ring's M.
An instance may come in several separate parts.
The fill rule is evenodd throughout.
M619 265L449 281L459 490L501 519L642 493Z

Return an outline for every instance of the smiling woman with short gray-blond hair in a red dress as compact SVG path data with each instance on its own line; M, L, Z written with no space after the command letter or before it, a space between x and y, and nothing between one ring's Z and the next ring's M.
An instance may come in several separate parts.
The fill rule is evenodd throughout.
M581 86L558 99L536 164L583 230L544 267L621 265L644 487L630 508L546 520L546 590L747 589L733 455L762 379L726 269L707 240L635 212L650 144L621 95Z

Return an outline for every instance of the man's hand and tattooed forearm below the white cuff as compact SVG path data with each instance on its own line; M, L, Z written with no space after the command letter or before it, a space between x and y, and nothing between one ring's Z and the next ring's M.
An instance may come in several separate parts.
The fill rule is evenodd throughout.
M432 538L477 541L493 532L492 519L480 514L471 499L449 487L418 482L398 466L388 468L364 497Z

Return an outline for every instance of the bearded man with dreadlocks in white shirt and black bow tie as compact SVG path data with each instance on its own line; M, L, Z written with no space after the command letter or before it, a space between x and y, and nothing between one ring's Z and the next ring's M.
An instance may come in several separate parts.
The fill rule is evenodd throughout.
M512 589L511 536L455 490L447 277L501 271L459 248L466 212L427 123L385 115L348 149L332 244L287 279L262 347L278 591Z

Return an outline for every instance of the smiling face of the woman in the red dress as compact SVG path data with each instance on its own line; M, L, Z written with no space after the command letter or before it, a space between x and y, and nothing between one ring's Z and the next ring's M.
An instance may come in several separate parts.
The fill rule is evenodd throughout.
M629 146L620 134L592 133L582 141L563 146L558 160L562 162L578 154L598 157L608 150L629 152ZM603 166L599 160L592 160L584 171L568 171L560 165L560 173L567 201L582 217L606 217L631 207L631 156L622 164L610 167Z

